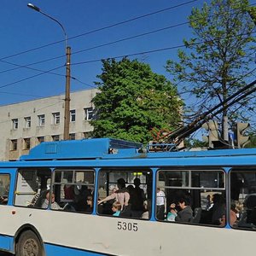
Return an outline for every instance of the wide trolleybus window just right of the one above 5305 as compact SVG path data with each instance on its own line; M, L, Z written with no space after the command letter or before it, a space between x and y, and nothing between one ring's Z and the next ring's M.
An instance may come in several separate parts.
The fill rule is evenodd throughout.
M156 218L168 222L225 224L225 174L222 170L157 172Z

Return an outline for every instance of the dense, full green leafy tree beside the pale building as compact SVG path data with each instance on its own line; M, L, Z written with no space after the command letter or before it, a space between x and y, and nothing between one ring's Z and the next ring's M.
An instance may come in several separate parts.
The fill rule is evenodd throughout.
M164 76L137 60L102 61L97 78L100 92L96 107L94 137L114 137L148 143L152 129L170 131L181 121L183 102L177 88Z

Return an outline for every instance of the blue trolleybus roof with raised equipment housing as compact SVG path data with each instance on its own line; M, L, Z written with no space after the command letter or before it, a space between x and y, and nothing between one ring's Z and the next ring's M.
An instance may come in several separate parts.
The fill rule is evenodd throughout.
M20 160L94 160L122 158L185 158L255 155L256 148L218 149L179 152L148 152L141 143L112 138L41 143Z

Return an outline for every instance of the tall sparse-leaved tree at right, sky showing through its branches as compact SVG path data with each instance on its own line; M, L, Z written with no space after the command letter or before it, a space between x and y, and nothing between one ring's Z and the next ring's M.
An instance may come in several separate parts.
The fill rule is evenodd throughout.
M183 82L184 93L199 99L195 113L211 109L253 77L255 38L253 20L247 0L212 0L201 9L193 9L189 26L194 37L184 40L186 52L178 51L179 61L167 61L166 69L175 82ZM197 106L196 106L197 105ZM223 137L227 137L226 117L248 121L255 109L253 96L248 96L218 115Z

